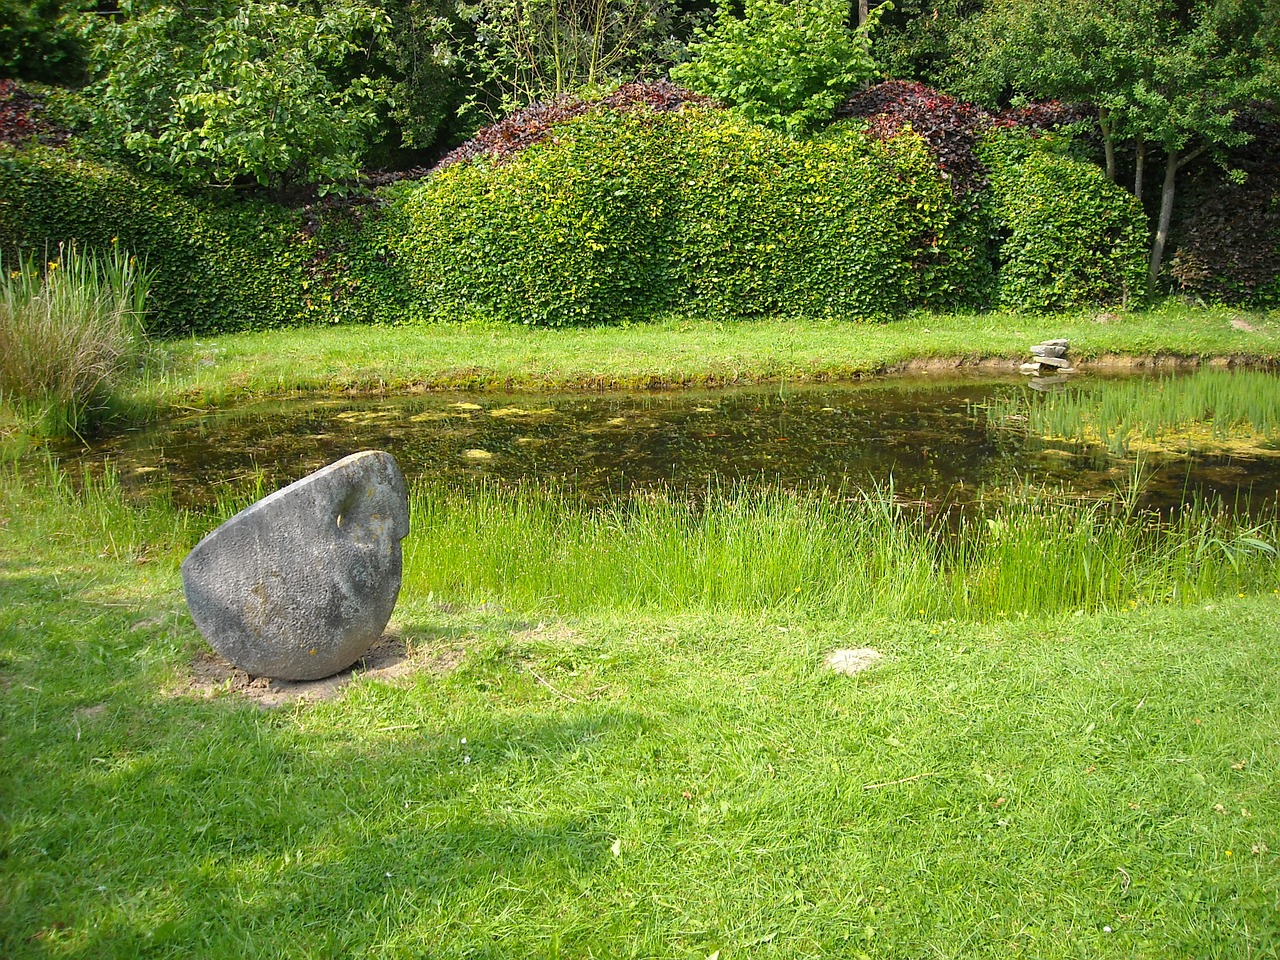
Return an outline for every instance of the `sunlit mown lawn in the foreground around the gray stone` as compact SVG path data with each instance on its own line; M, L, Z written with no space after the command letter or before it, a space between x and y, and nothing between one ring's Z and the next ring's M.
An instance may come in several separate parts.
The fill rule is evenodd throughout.
M1274 558L1194 604L891 616L786 596L847 504L468 517L422 490L392 626L426 666L261 712L173 692L201 648L175 567L212 520L77 488L0 479L4 956L1280 948ZM675 581L667 538L737 593L708 564L631 596L625 570ZM492 576L521 561L530 586ZM859 646L883 659L822 666Z

